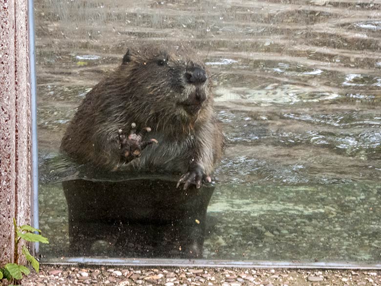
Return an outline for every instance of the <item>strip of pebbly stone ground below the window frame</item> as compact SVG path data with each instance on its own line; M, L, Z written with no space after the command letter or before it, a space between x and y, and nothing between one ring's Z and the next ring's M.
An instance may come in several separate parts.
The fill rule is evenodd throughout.
M378 286L380 270L146 268L42 265L23 286Z

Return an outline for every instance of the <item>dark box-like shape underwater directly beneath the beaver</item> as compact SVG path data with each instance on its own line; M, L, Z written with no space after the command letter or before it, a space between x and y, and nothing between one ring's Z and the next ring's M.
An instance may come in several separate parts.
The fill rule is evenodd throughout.
M124 176L126 177L126 176ZM214 187L176 189L176 181L64 181L70 255L201 258ZM106 244L107 245L107 244Z

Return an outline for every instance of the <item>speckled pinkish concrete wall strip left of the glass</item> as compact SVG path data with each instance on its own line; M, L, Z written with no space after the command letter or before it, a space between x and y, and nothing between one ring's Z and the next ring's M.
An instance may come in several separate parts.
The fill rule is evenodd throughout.
M0 0L0 265L12 260L12 218L30 224L30 86L26 0Z

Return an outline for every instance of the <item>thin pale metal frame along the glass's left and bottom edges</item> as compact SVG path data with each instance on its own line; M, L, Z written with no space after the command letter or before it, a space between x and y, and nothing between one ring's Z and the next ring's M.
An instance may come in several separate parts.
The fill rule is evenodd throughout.
M39 181L38 181L38 137L37 137L37 86L35 56L34 0L28 0L29 26L29 61L31 83L31 156L32 156L32 192L31 224L39 228ZM32 251L39 253L39 243L33 244ZM243 267L243 268L299 268L299 269L381 269L381 264L359 262L278 262L278 261L233 261L204 259L129 259L129 258L95 258L71 257L42 260L43 264L60 265L125 265L125 266L164 266L164 267Z

